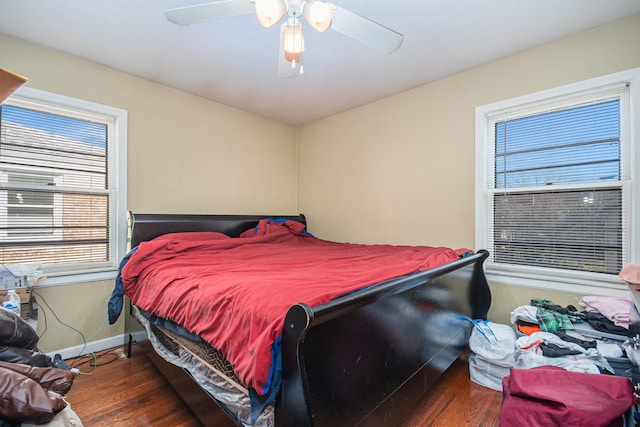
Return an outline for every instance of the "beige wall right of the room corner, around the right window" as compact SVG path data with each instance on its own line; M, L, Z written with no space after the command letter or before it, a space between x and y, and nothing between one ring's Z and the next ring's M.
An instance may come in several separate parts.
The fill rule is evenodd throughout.
M298 130L298 207L325 238L474 248L475 108L640 67L640 16L474 68ZM477 248L476 248L477 249ZM492 285L490 317L533 297Z

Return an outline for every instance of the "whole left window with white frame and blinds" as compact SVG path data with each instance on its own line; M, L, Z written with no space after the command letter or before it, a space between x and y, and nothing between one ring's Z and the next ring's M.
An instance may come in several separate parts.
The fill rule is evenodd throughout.
M126 111L22 88L0 106L0 262L47 284L115 277L126 248Z

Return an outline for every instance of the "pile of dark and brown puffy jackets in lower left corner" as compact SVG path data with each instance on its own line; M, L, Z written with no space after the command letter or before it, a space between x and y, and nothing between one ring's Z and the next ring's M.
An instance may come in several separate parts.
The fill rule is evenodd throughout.
M64 399L75 374L40 353L39 337L12 312L0 309L0 427L82 423Z

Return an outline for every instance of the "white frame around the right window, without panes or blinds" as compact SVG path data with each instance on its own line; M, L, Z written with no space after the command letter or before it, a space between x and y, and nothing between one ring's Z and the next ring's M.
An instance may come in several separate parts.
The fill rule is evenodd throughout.
M572 98L606 91L629 83L628 123L621 123L621 150L629 161L628 179L619 183L623 190L624 230L627 263L640 262L640 68L610 74L566 86L495 102L476 108L476 189L475 225L476 248L486 248L491 241L493 212L493 161L495 141L491 123L496 115L521 112L549 105L555 107ZM499 265L487 260L485 266L490 283L548 289L564 293L628 297L625 283L611 274L577 272L541 267Z

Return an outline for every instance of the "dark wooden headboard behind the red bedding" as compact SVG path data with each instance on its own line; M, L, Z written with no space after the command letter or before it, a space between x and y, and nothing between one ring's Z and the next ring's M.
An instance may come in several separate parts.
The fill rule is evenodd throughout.
M167 233L217 231L238 237L264 218L286 218L306 224L304 215L200 215L128 213L131 247Z

